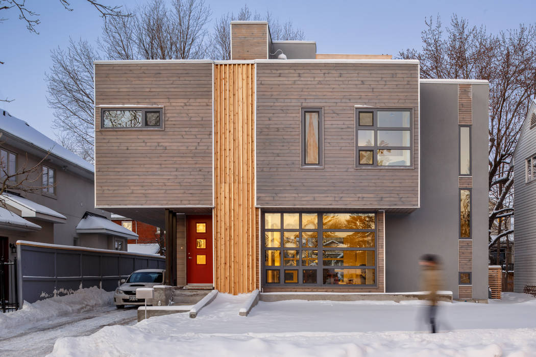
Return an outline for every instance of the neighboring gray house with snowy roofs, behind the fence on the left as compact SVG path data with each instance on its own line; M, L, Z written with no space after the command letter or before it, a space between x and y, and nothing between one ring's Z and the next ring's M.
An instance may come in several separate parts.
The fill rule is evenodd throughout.
M0 109L0 174L29 173L24 185L35 192L4 192L0 207L0 246L12 259L17 240L126 250L136 234L109 221L109 213L94 207L93 165L73 154L25 121ZM20 183L23 175L13 178Z

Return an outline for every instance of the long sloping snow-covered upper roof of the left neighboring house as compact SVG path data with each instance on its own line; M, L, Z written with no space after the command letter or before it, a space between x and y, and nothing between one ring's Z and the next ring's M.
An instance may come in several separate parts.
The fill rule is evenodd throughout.
M3 114L5 113L5 114ZM3 114L3 115L2 115ZM94 172L93 165L88 163L80 156L72 153L59 145L47 135L35 130L26 121L13 117L8 111L0 108L0 130L9 133L17 138L24 140L44 151L50 151L51 154L69 161L80 168Z

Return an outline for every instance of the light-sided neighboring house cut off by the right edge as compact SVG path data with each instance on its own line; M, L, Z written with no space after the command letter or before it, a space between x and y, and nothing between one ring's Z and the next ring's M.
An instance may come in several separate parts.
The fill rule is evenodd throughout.
M532 100L513 153L515 292L536 285L536 100Z

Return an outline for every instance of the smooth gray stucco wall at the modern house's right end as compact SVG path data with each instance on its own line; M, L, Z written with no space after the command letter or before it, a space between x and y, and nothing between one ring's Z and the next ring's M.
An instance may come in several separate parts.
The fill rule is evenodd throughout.
M444 288L458 297L458 85L421 83L421 201L409 215L386 215L386 291L420 288L419 257L438 254ZM473 298L487 298L488 86L473 85ZM404 269L401 269L404 267Z

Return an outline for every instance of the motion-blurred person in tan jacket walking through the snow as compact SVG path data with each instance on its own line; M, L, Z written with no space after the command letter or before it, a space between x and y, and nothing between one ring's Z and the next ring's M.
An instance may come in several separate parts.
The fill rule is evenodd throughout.
M422 267L422 291L426 291L428 301L427 314L425 315L430 324L430 332L437 332L437 294L441 289L441 269L437 255L425 254L419 264Z

